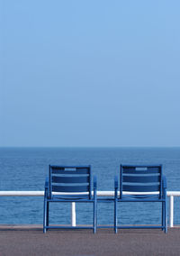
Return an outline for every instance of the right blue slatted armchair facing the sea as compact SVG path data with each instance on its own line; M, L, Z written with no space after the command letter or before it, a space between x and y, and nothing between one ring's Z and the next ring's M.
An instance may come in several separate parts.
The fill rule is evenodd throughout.
M161 228L167 232L166 177L162 175L162 165L120 167L120 195L118 178L114 180L114 232L118 228ZM161 225L118 225L118 202L159 202L162 204Z

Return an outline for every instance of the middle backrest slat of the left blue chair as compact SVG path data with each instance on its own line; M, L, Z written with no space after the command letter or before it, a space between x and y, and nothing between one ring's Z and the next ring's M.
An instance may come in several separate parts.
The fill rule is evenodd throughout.
M89 176L86 177L73 177L73 176L66 176L66 177L58 177L58 176L53 176L52 177L52 182L54 183L89 183L90 178Z

